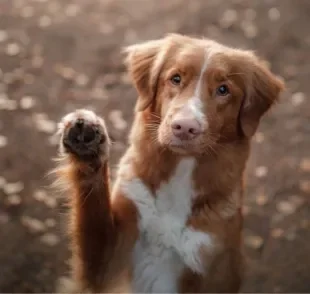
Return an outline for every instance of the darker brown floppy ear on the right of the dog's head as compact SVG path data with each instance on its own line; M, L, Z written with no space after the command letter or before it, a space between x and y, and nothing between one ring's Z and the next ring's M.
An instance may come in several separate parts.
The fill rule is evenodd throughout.
M256 132L261 117L278 100L284 83L254 55L247 63L251 78L240 110L240 127L243 135L250 138Z

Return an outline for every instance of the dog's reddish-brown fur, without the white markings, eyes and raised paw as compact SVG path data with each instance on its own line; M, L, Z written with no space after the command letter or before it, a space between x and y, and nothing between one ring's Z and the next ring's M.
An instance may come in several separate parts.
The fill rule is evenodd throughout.
M106 161L94 170L70 155L69 170L62 174L72 186L73 268L82 289L111 290L130 270L130 254L139 234L137 211L121 194L120 182L139 177L155 191L171 176L179 160L188 155L169 148L169 123L179 105L193 95L205 48L214 53L202 91L209 125L188 150L199 162L194 171L198 196L188 226L213 233L222 250L212 256L207 276L185 269L179 289L238 291L243 268L242 181L250 139L260 118L278 99L283 84L251 52L176 34L125 50L139 99L130 147L120 161L112 198ZM179 88L169 83L175 72L184 78ZM223 82L230 95L218 99L214 91ZM201 258L209 263L209 252L202 251Z

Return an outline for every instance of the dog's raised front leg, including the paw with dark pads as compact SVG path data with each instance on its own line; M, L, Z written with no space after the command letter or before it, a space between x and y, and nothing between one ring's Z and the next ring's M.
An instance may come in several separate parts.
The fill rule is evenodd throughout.
M62 119L59 130L64 160L58 176L70 190L74 279L79 291L108 291L130 264L136 209L121 194L111 202L104 121L91 111L77 110Z

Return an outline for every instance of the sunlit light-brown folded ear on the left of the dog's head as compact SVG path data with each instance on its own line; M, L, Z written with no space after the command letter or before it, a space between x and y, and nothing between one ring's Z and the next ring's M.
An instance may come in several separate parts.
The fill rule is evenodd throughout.
M165 39L159 39L131 45L123 50L128 73L139 94L137 111L145 110L156 96L159 74L167 51L165 44Z

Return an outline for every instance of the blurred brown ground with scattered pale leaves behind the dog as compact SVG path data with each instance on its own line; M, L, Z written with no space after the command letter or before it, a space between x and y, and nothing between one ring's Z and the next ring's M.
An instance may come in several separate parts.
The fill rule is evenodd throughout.
M243 292L310 292L310 1L0 0L0 292L67 282L64 209L45 176L56 124L87 107L127 144L136 92L120 49L168 32L255 49L287 83L253 139Z

